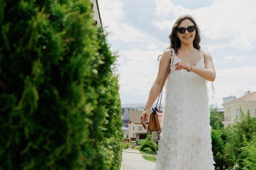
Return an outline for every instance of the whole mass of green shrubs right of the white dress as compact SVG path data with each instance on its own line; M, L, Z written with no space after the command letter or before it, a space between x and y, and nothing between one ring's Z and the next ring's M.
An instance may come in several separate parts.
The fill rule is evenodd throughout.
M255 170L256 118L249 110L240 108L233 127L212 129L211 139L216 170Z

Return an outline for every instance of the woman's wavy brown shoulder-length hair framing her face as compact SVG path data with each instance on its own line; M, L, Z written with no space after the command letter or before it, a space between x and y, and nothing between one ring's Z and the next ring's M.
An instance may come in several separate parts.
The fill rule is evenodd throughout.
M194 26L195 26L195 31L196 31L196 35L195 35L195 39L193 40L193 46L195 49L200 50L200 30L198 28L198 25L196 24L195 20L191 17L191 15L182 15L180 16L174 23L173 28L172 28L172 32L169 35L170 38L170 42L171 45L168 47L168 49L174 49L175 54L178 54L178 48L180 48L180 39L177 37L177 28L180 25L180 23L183 20L190 20L191 22L193 22Z

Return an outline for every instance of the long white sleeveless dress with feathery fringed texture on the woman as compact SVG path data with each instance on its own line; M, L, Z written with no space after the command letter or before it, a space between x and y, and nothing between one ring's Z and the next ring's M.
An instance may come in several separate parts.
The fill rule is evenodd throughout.
M202 50L200 55L196 66L204 68ZM184 69L175 71L177 61L173 53L156 170L214 170L206 80Z

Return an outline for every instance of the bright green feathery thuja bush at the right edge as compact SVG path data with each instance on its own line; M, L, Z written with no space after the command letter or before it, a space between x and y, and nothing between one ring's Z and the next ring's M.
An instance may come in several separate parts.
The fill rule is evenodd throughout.
M240 118L235 119L233 127L225 129L227 141L224 148L224 160L229 169L253 170L251 166L256 162L256 118L251 117L249 110L244 115L240 108Z

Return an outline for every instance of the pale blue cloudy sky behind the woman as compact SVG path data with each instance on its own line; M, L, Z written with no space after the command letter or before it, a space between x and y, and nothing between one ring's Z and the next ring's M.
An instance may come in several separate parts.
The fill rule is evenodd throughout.
M143 104L155 81L175 20L191 15L216 68L209 104L256 91L256 3L254 0L98 0L110 50L119 56L121 104ZM163 97L164 99L164 97ZM164 102L164 101L163 101ZM163 103L162 102L162 103Z

